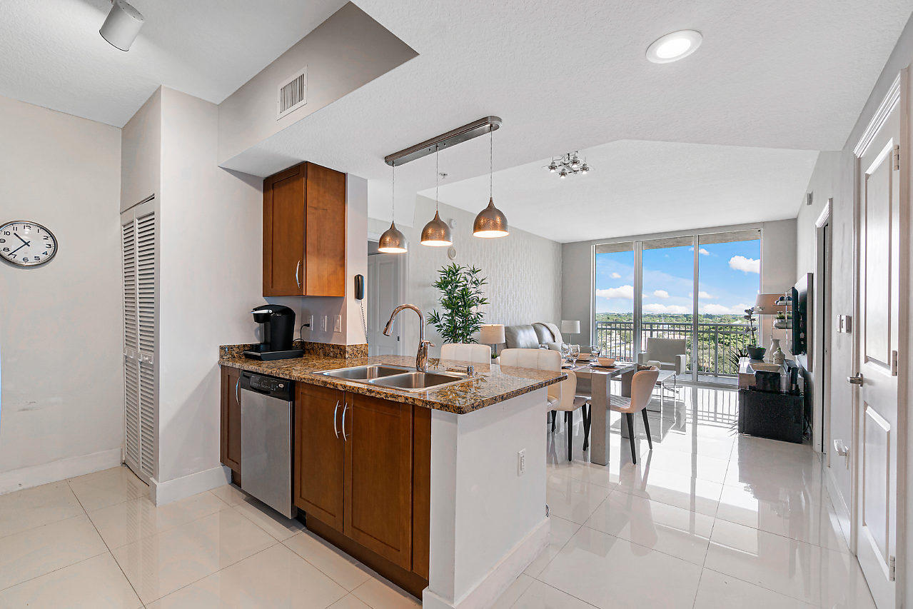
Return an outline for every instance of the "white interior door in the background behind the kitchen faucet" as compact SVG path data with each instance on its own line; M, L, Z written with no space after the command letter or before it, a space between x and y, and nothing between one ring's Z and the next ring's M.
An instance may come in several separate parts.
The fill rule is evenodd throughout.
M374 254L368 257L368 354L399 355L400 320L394 320L390 336L383 327L399 306L402 255Z

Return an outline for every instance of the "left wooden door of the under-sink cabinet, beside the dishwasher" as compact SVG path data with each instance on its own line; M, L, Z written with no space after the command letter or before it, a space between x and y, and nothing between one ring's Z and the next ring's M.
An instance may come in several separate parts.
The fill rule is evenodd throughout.
M343 530L344 394L297 383L295 400L295 505L308 517Z

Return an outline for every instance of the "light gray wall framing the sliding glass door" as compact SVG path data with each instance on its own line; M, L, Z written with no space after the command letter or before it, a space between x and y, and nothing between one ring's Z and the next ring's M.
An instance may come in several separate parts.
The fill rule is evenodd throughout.
M683 230L654 235L635 235L577 241L562 244L561 253L561 317L565 320L580 320L581 342L590 341L593 321L593 246L600 243L615 243L667 236L720 233L729 230L761 228L761 292L771 294L785 291L795 283L794 260L796 252L795 220L776 220L754 225L713 226L697 230ZM767 346L770 342L769 320L762 320L759 342ZM776 336L776 334L774 334Z

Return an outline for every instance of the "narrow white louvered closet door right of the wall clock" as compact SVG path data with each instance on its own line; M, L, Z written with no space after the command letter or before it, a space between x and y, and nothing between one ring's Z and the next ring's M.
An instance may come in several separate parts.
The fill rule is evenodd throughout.
M158 410L155 224L154 201L121 215L124 461L146 482L155 476Z

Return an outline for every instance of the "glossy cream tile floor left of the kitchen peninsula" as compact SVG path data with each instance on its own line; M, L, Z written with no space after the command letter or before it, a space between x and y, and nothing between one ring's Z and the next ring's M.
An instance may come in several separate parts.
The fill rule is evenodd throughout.
M419 606L235 487L148 493L115 467L0 496L0 607Z

